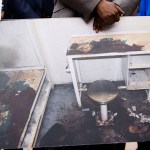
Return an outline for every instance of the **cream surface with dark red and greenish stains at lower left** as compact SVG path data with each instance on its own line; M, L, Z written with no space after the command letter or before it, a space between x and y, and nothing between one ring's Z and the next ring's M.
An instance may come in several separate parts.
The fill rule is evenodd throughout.
M0 148L17 148L43 73L0 72Z

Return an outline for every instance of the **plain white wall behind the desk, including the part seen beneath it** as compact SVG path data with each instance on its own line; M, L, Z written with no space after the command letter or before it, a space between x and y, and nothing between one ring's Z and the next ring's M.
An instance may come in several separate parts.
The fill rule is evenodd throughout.
M35 20L31 24L36 26L35 35L43 46L42 52L54 84L71 82L71 76L66 73L65 68L67 45L72 36L150 32L149 17L124 17L119 23L98 34L92 29L92 21L86 24L80 18ZM122 80L121 63L121 59L81 62L83 81L92 82L104 77L109 80Z

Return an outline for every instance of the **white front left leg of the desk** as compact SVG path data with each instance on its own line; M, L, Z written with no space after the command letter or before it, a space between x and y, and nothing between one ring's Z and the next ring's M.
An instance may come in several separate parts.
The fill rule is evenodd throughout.
M77 103L78 103L78 106L81 107L81 97L80 97L80 92L79 92L80 84L79 84L79 79L77 75L75 60L73 60L72 58L68 58L68 63L69 63L72 82L73 82L73 86L74 86L74 90L75 90L75 94L77 98Z

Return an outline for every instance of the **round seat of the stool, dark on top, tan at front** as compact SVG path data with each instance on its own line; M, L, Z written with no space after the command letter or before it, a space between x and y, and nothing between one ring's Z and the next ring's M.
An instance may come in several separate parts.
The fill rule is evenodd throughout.
M112 81L98 80L90 84L87 94L93 101L107 104L117 97L118 87Z

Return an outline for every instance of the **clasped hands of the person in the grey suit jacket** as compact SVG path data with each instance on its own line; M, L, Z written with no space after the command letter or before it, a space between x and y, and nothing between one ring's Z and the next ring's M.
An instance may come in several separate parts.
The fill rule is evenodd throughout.
M104 26L118 22L121 14L124 14L124 11L119 6L107 0L101 0L96 7L93 29L99 32Z

